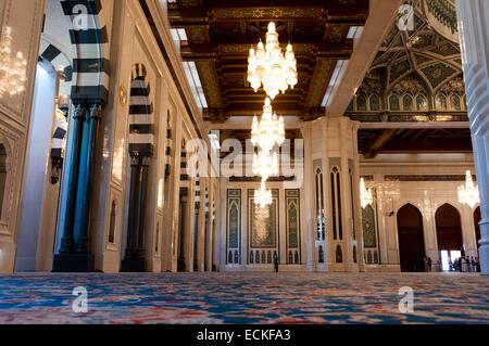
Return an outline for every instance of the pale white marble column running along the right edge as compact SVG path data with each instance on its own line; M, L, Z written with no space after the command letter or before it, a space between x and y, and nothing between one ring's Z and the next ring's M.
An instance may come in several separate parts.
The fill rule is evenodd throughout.
M480 265L489 274L489 2L456 1L474 161L480 192Z

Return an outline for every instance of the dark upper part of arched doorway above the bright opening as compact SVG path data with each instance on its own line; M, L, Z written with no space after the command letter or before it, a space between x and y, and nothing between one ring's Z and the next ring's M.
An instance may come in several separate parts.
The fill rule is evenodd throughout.
M463 251L462 223L459 210L443 204L435 214L439 251Z

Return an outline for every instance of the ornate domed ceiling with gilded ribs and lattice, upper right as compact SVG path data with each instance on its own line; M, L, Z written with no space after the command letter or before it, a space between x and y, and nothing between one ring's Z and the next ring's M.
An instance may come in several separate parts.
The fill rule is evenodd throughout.
M432 16L427 14L428 0L413 2L414 30L401 31L392 25L350 104L347 115L351 118L467 120L459 43L435 29L440 23L434 25L432 18L428 20ZM443 23L452 27L451 21Z

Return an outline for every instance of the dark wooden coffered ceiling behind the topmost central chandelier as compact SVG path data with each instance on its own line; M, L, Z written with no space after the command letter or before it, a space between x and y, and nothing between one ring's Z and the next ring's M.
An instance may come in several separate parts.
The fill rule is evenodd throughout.
M338 60L349 59L352 26L363 26L368 0L177 0L168 3L173 28L185 28L185 61L195 61L209 108L204 119L223 123L230 116L260 113L265 93L247 82L248 53L277 24L280 43L290 41L298 60L299 84L278 95L280 115L303 120L324 115L321 104Z

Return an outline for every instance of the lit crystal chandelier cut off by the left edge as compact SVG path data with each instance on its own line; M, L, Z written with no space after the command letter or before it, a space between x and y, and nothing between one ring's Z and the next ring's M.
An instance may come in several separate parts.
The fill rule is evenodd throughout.
M24 92L27 61L22 52L17 52L14 57L12 54L12 29L4 27L0 41L0 98L4 94L14 97Z

